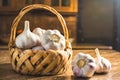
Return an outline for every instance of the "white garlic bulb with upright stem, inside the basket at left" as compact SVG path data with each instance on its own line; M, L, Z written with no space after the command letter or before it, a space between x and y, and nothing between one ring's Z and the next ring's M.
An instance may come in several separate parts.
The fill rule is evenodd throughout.
M15 44L18 48L31 48L38 45L39 42L38 35L32 33L29 28L29 21L25 21L25 27L21 34L16 37Z

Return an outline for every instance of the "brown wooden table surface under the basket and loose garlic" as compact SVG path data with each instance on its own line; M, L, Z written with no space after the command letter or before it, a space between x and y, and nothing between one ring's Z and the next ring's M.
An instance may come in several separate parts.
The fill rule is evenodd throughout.
M95 57L94 50L73 50L74 55L78 52L91 54ZM0 80L120 80L120 52L115 50L100 50L101 55L110 60L112 69L108 74L94 74L91 78L77 78L69 69L64 74L54 76L28 76L21 75L12 70L8 50L0 50Z

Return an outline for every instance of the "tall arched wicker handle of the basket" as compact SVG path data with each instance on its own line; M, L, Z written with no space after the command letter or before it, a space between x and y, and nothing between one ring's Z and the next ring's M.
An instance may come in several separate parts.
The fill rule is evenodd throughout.
M50 12L52 12L53 14L55 14L58 18L58 20L60 21L61 25L62 25L62 29L63 29L63 32L64 32L64 37L66 39L66 47L70 47L69 45L69 40L68 40L68 29L67 29L67 26L66 26L66 22L64 20L64 18L52 7L50 6L47 6L47 5L43 5L43 4L33 4L33 5L29 5L29 6L26 6L24 7L20 13L18 14L18 16L14 19L13 23L12 23L12 26L11 26L11 35L10 35L10 41L9 41L9 44L8 46L9 47L12 47L15 43L15 37L16 37L16 28L18 26L18 23L19 21L21 20L21 18L27 13L29 12L30 10L33 10L33 9L45 9L45 10L48 10Z

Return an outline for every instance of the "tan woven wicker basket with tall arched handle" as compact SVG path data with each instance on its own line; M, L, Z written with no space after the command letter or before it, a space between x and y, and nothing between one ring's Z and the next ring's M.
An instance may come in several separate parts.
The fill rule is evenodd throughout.
M62 25L64 37L66 39L66 49L64 51L21 50L15 46L16 28L18 23L24 14L33 9L45 9L57 16ZM18 73L29 75L55 75L66 72L71 65L72 48L68 40L68 29L63 17L55 9L47 5L33 4L26 6L20 11L12 23L9 53L12 68Z

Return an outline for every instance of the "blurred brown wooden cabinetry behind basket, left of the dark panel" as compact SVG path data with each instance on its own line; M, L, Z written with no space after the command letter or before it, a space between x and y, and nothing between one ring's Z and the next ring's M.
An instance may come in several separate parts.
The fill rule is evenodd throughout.
M45 4L55 8L63 15L70 38L76 38L77 0L0 0L0 37L10 35L12 21L23 7L30 4ZM61 31L61 24L57 21L56 16L46 16L44 14L47 15L49 13L44 11L42 13L35 10L26 14L22 18L18 29L23 28L23 22L25 20L29 20L31 30L35 27L43 26L41 28L59 29ZM47 24L46 21L48 21Z

